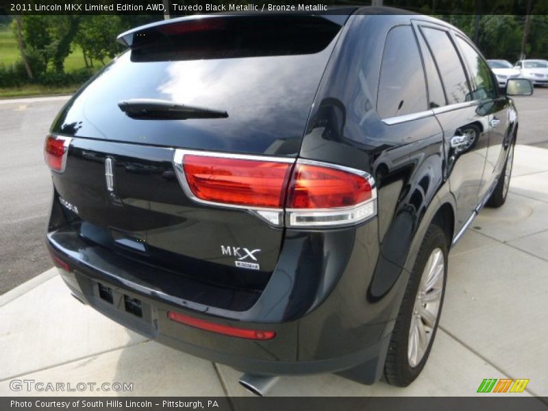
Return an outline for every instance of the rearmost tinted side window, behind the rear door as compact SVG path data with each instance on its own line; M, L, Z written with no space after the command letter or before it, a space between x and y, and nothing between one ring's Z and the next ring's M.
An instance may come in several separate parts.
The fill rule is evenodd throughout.
M423 64L410 25L388 32L381 62L377 113L381 119L427 110Z

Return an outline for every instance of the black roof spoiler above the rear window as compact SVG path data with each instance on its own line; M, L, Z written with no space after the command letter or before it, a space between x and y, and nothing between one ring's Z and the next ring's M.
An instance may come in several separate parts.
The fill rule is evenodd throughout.
M325 12L318 12L318 13L303 13L303 12L287 12L283 13L281 15L284 16L316 16L318 18L325 18L325 20L331 21L332 23L335 23L337 25L343 26L345 25L348 17L356 11L356 7L345 7L345 8L331 8L326 10ZM137 34L140 34L142 32L145 32L149 29L155 29L157 27L164 27L166 25L172 25L181 23L183 21L199 21L199 20L205 20L207 18L229 18L229 17L235 17L235 16L272 16L272 15L280 15L279 12L264 12L264 13L234 13L234 14L197 14L194 16L184 16L184 17L178 17L178 18L171 18L169 20L162 20L162 21L156 21L155 23L150 23L147 25L142 25L140 27L136 27L134 29L128 30L127 32L123 32L120 34L116 41L121 43L124 46L132 47L135 42L135 38Z

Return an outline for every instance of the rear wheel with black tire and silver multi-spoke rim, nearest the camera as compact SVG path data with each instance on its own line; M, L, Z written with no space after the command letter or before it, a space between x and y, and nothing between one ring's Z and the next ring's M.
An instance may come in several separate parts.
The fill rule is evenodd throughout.
M384 377L390 385L408 386L419 376L428 360L438 329L443 297L445 297L447 254L447 238L445 238L443 229L435 224L430 225L416 257L388 345ZM436 258L443 259L441 262L443 266L440 267L436 264L438 261ZM432 267L435 268L434 272L429 270ZM429 273L435 274L436 271L436 281L433 282L431 288L428 288L429 284L425 282L425 279ZM425 294L422 294L421 292L424 291L426 291ZM419 299L419 295L421 299ZM423 300L424 295L430 296L428 302ZM436 297L435 300L434 297ZM431 299L432 301L430 301ZM438 304L437 308L435 303ZM422 307L422 311L419 307ZM419 314L423 311L427 311L429 314L423 317ZM420 328L424 330L424 333L419 332ZM412 341L415 341L416 344ZM424 343L421 343L423 341ZM412 347L415 347L416 350L414 351Z

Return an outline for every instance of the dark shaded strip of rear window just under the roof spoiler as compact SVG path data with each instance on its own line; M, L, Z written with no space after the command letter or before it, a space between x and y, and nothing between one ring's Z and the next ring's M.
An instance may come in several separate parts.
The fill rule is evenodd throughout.
M317 16L224 16L138 32L132 61L209 60L319 53L340 26Z

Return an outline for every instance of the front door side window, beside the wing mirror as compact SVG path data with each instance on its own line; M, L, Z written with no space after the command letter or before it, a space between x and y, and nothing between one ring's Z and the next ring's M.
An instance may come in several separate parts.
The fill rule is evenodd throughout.
M489 66L481 55L463 38L456 36L458 47L462 51L462 57L468 64L471 71L472 81L472 100L493 99L497 96L497 90L493 86L493 77L491 77Z

